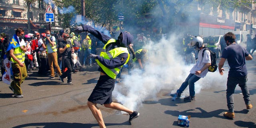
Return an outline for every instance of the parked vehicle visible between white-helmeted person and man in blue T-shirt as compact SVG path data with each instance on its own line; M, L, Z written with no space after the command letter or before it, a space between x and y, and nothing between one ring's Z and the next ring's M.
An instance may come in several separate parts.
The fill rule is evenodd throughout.
M213 52L216 52L217 58L221 57L221 46L220 46L220 39L222 38L222 35L218 36L206 36L204 37L204 44L206 44L206 47L208 47Z

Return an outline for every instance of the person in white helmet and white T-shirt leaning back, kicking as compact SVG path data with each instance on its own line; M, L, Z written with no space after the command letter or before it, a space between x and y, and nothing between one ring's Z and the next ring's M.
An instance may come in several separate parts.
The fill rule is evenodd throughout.
M205 50L206 47L203 44L203 38L199 36L195 36L190 42L190 46L194 47L195 50L198 51L198 60L193 68L190 70L190 74L186 78L186 80L182 83L180 88L174 94L170 94L172 96L172 100L176 98L180 98L182 92L189 87L189 96L184 98L184 101L191 102L191 100L196 100L195 96L195 82L197 82L200 78L204 78L208 73L208 67L211 65L211 57L210 51ZM204 51L204 56L202 55Z

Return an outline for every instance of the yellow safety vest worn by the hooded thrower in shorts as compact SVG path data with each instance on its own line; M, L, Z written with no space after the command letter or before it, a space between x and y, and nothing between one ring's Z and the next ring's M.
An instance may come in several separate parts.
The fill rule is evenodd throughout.
M115 58L116 56L122 54L122 53L127 53L128 54L128 58L126 59L125 64L128 63L129 59L130 59L130 54L128 52L128 48L123 48L123 47L118 47L118 48L114 48L108 52L106 52L106 46L110 43L116 42L115 39L110 39L108 40L108 42L105 44L105 46L102 49L102 52L100 52L100 56L102 56L104 59L112 59ZM122 66L119 66L117 68L112 68L109 69L106 66L104 66L103 64L100 63L100 61L98 59L96 59L96 62L98 63L98 65L100 66L100 68L102 68L102 70L104 70L104 72L111 78L116 79L116 75L119 74Z

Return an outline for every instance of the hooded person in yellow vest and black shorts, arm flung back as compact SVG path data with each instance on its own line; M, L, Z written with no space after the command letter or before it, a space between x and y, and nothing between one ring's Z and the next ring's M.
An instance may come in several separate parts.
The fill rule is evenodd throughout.
M116 75L130 58L128 45L131 44L133 36L127 32L121 32L118 39L115 40L87 25L76 26L75 30L77 32L89 32L105 44L100 55L90 54L89 56L89 58L95 58L101 68L100 78L87 102L100 128L106 128L106 126L97 104L104 104L107 108L127 112L130 115L129 121L137 118L140 115L138 112L130 110L122 104L112 102L112 91L114 90Z

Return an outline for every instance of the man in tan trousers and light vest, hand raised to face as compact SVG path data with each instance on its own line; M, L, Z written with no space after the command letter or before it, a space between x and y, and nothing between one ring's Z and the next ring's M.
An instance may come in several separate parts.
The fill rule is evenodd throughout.
M56 39L54 36L50 35L51 34L50 30L46 30L45 34L46 34L46 38L44 39L44 41L46 44L46 52L48 54L48 64L51 70L51 77L49 79L55 79L53 64L59 76L62 75L60 71L60 67L58 65Z

